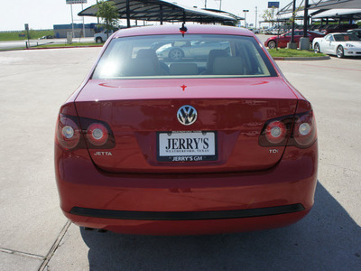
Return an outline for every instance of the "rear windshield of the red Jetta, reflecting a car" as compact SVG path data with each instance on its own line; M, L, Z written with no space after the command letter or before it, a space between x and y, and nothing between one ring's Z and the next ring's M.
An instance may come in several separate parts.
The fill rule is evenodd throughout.
M276 76L253 37L186 34L114 39L93 79Z

